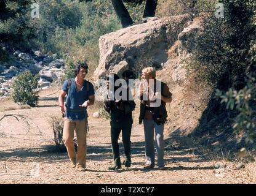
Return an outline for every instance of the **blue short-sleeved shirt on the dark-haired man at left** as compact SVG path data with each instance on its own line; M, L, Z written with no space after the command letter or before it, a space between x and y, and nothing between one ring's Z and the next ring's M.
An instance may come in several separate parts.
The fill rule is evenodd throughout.
M87 118L87 107L79 107L84 104L86 100L89 100L89 96L94 95L94 86L89 81L84 81L84 85L81 90L78 91L74 78L71 79L70 88L68 90L68 81L66 80L62 85L62 90L65 91L68 96L66 97L66 114L65 116L71 120L83 120ZM89 83L89 91L87 92L87 83Z

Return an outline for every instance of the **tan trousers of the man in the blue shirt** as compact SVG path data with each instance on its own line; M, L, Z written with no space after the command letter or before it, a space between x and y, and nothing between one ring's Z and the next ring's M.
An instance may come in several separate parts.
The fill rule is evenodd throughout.
M74 149L74 130L76 130L76 137L78 140L77 153ZM86 168L86 134L87 121L74 120L64 118L63 128L63 143L68 151L68 156L71 162L76 163L76 167Z

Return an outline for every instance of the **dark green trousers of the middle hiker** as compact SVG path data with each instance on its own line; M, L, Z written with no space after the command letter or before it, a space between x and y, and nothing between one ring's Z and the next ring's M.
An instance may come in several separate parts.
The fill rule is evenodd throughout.
M121 165L118 137L122 131L122 142L124 144L124 154L126 160L130 161L130 134L132 131L132 124L120 124L111 122L111 145L114 158L114 165Z

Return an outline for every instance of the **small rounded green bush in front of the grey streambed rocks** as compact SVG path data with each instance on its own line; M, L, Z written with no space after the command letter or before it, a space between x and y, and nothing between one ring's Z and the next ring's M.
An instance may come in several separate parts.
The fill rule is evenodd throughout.
M38 75L32 75L30 71L18 75L12 83L12 98L14 102L28 104L34 107L38 104Z

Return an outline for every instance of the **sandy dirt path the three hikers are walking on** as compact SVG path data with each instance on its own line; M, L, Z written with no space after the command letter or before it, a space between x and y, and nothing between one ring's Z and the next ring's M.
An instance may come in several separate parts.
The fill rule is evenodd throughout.
M217 161L194 154L193 149L186 146L177 147L171 140L166 141L167 170L143 170L143 129L138 125L136 115L131 137L132 167L108 171L112 164L110 123L105 119L89 118L87 171L76 171L70 167L66 153L47 151L53 138L49 116L60 115L58 93L47 96L55 91L41 92L39 107L36 108L13 110L12 102L1 100L1 107L9 105L12 108L4 113L26 115L33 119L33 123L28 130L25 123L14 118L1 121L0 183L256 183L255 163L234 170L236 163L225 162L224 168L217 169L214 167ZM4 113L0 112L0 116ZM123 154L121 137L120 145Z

